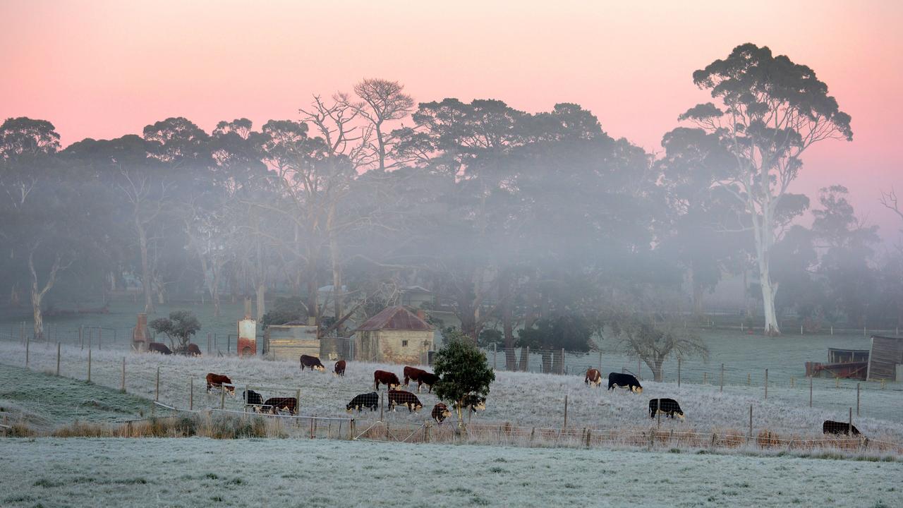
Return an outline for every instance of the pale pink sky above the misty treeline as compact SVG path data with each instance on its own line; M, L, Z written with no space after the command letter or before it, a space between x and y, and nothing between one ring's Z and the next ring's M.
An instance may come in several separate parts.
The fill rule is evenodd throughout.
M261 5L257 5L261 4ZM742 42L804 63L852 115L854 141L805 156L794 191L903 194L903 2L55 2L0 4L0 118L51 120L67 145L172 116L297 119L312 93L363 77L417 100L502 99L535 112L576 102L649 151L708 99L692 73Z

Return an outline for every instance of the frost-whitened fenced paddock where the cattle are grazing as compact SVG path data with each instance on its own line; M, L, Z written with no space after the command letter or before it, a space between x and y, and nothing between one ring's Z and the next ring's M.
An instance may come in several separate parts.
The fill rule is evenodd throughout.
M61 374L84 379L87 374L87 351L63 347ZM0 361L23 363L23 346L18 343L0 343ZM122 375L122 352L94 352L92 381L118 388ZM52 372L56 368L56 348L34 346L31 351L32 368ZM333 377L330 373L301 372L294 362L268 362L259 359L239 360L234 357L186 358L159 354L126 354L126 389L129 393L154 398L155 375L160 367L160 400L181 409L189 406L189 380L194 380L194 408L219 407L218 393L208 395L204 390L207 372L227 374L238 385L285 387L286 390L257 389L264 397L293 396L300 389L303 415L347 416L345 404L358 393L373 389L373 371L384 369L399 374L399 365L349 362L346 377ZM331 364L328 365L331 368ZM662 420L662 428L711 432L716 429L735 428L746 430L749 426L749 406L753 407L753 432L769 429L781 437L819 437L824 419L847 419L847 401L838 409L810 409L808 390L805 399L799 390L772 389L768 400L763 400L761 389L725 387L720 393L717 386L684 385L644 381L641 395L626 390L607 391L604 388L586 387L577 376L560 376L526 372L497 372L491 386L488 408L473 417L474 422L511 422L523 427L560 428L563 425L564 396L568 396L568 427L571 428L648 428L653 421L648 417L648 400L670 397L680 401L686 412L684 421ZM384 389L385 390L385 389ZM413 387L412 387L413 390ZM847 397L847 390L819 389L815 398L838 397L838 391ZM239 390L240 395L240 390ZM854 396L855 394L853 394ZM429 409L437 402L435 396L420 396L424 412L409 414L397 411L386 414L393 423L419 423L429 419ZM872 390L864 399L863 414L870 408L903 408L900 392ZM853 400L852 405L855 405ZM241 409L237 400L226 398L226 407ZM842 409L841 409L842 408ZM372 419L375 415L365 411L359 418ZM853 421L871 439L903 442L903 423L899 419L885 420L867 417Z

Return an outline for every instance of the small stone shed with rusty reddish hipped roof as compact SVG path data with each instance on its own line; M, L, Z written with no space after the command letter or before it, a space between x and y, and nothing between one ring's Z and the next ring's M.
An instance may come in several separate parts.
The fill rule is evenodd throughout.
M433 347L433 326L404 306L383 309L355 330L359 362L423 365Z

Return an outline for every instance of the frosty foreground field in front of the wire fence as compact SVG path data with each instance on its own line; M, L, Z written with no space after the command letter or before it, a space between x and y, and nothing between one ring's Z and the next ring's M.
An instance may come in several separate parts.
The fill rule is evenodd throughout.
M0 505L898 506L903 463L305 439L7 439Z

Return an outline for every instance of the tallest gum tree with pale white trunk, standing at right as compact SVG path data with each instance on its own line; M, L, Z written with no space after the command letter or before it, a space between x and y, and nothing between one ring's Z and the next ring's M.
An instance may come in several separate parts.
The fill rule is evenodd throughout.
M777 284L770 258L780 228L776 215L802 166L806 148L825 139L852 141L850 116L828 95L815 71L767 46L741 44L724 60L693 73L696 86L720 102L699 104L679 120L690 120L721 137L734 158L730 174L717 182L739 200L749 218L759 268L765 333L780 334L775 312Z

